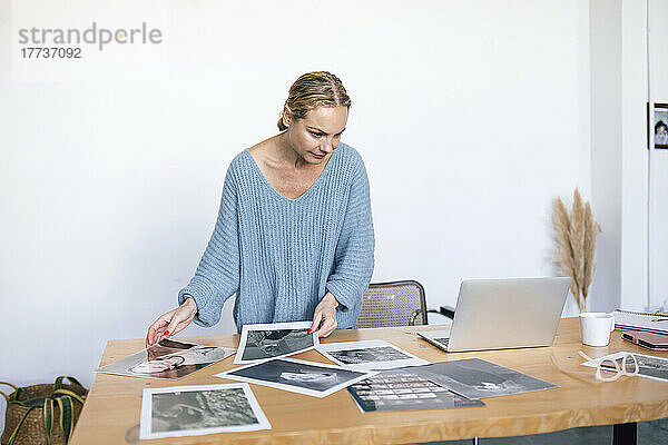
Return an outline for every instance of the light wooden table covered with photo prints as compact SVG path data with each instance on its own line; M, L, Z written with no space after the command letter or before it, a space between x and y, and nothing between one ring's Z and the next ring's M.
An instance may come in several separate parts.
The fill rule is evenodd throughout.
M471 437L519 436L578 426L627 424L615 434L635 435L635 423L668 417L668 383L621 377L613 383L586 383L558 370L553 354L567 370L586 370L578 350L600 357L619 350L660 355L623 342L612 334L607 347L580 343L577 318L562 319L554 345L543 348L446 354L416 337L416 330L442 326L411 326L337 330L323 343L382 338L430 362L478 357L559 385L559 388L485 398L484 407L360 413L347 390L325 398L310 397L265 386L250 385L272 429L207 436L147 441L165 444L402 444ZM237 335L187 337L188 342L236 347ZM144 339L110 340L101 365L144 347ZM664 353L666 356L666 353ZM330 363L315 350L296 355ZM233 358L212 365L179 380L165 382L98 374L70 444L124 444L139 442L141 389L176 385L230 383L213 377L229 369ZM591 370L591 369L590 369ZM593 374L593 373L592 373ZM618 437L619 438L619 437Z

